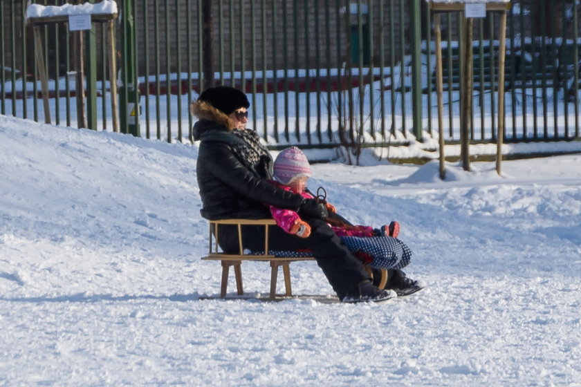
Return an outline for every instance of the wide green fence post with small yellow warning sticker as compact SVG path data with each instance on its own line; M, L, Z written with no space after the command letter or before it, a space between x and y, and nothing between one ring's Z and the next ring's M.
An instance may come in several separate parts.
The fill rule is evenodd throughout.
M121 21L121 79L119 88L119 121L121 133L136 137L139 131L139 90L136 74L135 21L133 20L133 1L122 0L124 15Z

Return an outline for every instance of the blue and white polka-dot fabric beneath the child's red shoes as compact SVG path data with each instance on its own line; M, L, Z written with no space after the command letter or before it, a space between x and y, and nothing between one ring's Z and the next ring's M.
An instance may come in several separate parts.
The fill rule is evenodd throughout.
M374 269L401 269L412 258L412 250L391 236L342 236L341 242Z

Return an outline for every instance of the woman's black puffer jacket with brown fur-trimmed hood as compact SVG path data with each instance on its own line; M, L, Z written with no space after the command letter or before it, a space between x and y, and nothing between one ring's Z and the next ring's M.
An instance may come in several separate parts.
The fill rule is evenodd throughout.
M234 151L240 138L230 133L234 127L228 116L205 102L194 102L192 114L200 118L194 125L194 139L201 140L196 175L203 208L210 220L225 218L270 218L268 205L297 211L302 196L271 185L270 156L255 165L240 160Z

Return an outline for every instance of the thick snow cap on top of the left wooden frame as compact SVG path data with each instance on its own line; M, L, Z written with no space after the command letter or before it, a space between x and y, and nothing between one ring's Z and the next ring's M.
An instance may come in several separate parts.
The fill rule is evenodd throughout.
M30 4L26 8L26 21L66 20L71 15L91 15L93 20L115 19L117 17L115 0L103 0L100 3L84 3L77 6L64 4L62 6L40 6Z

